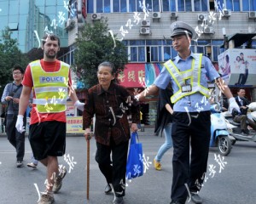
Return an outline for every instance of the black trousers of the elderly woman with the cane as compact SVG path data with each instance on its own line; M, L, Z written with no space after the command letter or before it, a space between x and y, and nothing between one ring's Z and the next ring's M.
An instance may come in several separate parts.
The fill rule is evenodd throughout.
M113 184L113 190L117 197L125 195L128 144L129 141L116 145L113 139L111 139L109 146L96 143L96 161L108 184Z

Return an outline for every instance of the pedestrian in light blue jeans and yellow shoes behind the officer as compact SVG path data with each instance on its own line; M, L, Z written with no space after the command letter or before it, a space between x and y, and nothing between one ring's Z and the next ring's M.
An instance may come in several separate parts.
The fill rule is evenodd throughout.
M154 133L164 132L166 141L160 146L157 155L154 157L154 168L161 170L161 159L167 150L172 148L172 84L169 83L166 89L159 91L158 107L157 107L157 120L155 123Z

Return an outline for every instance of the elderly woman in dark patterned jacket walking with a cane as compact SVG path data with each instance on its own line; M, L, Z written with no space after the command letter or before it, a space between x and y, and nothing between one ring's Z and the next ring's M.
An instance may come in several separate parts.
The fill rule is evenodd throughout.
M114 82L115 70L111 63L102 62L98 66L97 77L99 84L90 88L86 94L84 136L90 139L90 124L96 115L96 161L108 183L105 193L113 189L113 203L124 203L126 160L131 137L127 116L131 114L131 131L137 131L139 106L124 87Z

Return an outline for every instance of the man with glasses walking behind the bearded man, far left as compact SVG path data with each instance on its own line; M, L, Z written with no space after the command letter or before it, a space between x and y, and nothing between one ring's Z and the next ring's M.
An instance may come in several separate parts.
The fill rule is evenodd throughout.
M6 126L5 131L9 143L15 147L16 150L16 167L23 167L23 158L25 154L25 132L19 133L15 128L17 121L20 94L22 91L22 79L24 76L24 70L20 65L15 65L12 69L14 82L8 83L1 98L3 105L7 105L6 109ZM23 113L26 114L26 113ZM26 124L26 116L23 118L24 124Z

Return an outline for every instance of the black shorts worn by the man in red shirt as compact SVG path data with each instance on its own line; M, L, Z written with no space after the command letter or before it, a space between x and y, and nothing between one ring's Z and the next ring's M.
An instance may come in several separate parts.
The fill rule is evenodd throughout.
M66 149L66 122L40 122L30 125L29 136L33 156L63 156Z

